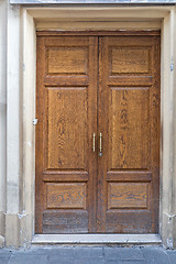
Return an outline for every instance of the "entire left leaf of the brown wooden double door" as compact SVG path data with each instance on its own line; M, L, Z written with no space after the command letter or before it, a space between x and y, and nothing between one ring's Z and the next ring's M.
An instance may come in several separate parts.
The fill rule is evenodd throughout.
M97 59L96 37L37 37L36 233L96 231Z

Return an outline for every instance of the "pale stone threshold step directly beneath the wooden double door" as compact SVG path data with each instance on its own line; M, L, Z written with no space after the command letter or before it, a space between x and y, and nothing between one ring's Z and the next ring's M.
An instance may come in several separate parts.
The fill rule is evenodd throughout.
M153 245L158 234L35 234L32 245Z

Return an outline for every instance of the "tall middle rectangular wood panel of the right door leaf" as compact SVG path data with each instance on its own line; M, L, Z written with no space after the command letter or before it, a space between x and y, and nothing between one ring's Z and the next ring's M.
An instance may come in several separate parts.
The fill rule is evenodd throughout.
M110 94L110 169L147 168L150 88L118 87Z

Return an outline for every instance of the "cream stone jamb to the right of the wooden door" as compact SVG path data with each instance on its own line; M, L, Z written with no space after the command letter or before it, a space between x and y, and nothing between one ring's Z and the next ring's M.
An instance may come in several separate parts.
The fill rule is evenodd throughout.
M172 248L174 237L174 92L175 92L175 10L163 22L162 38L162 153L161 153L161 234Z

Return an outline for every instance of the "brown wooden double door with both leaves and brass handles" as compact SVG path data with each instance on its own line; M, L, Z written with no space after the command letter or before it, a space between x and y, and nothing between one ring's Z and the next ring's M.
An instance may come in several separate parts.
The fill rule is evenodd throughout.
M37 34L36 233L158 231L160 34Z

